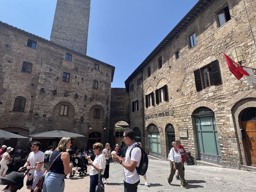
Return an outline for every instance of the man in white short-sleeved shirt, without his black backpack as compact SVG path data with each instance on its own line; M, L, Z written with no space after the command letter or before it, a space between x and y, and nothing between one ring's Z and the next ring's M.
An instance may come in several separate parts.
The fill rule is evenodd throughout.
M138 145L138 143L134 141L133 130L126 130L123 139L126 144L129 144L125 158L116 155L113 156L113 160L124 166L124 192L136 192L138 184L140 183L140 176L136 171L136 167L140 164L141 150L138 147L132 149L134 145ZM130 157L131 149L132 153Z

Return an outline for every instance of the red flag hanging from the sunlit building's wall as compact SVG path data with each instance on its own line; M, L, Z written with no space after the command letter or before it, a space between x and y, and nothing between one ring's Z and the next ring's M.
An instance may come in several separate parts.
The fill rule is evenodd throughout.
M224 53L223 53L224 54ZM232 74L237 78L239 81L243 75L250 76L246 70L244 70L240 65L238 65L236 62L234 62L231 58L229 58L226 54L224 54L226 62L228 64L228 68Z

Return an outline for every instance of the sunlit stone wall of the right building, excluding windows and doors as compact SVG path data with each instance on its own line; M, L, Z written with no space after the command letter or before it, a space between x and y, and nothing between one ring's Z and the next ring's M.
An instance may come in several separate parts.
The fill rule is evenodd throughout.
M191 114L196 108L205 106L213 110L215 114L223 166L239 168L239 164L243 164L241 160L245 157L240 158L242 154L238 143L239 135L234 130L234 118L237 117L233 116L230 110L226 110L226 104L228 102L239 102L239 100L234 102L232 100L238 94L255 90L255 87L248 86L245 76L240 81L234 77L228 69L222 52L232 58L231 49L234 46L242 46L246 58L243 66L255 68L256 8L253 0L228 1L231 20L218 27L216 12L224 5L225 2L221 0L212 1L143 68L143 94L146 95L166 84L169 97L168 101L160 102L155 106L146 108L144 105L145 117L166 110L173 109L174 111L173 116L145 118L145 127L153 123L160 131L162 159L168 156L165 135L168 123L174 126L176 138L179 137L180 129L188 130L188 138L181 138L182 144L187 151L191 152L194 158L199 159L194 120ZM196 33L197 44L189 48L188 36L192 32ZM175 56L177 51L181 54L178 59ZM158 58L160 56L162 56L163 66L158 69ZM194 70L208 65L214 60L219 62L222 83L196 91ZM152 75L147 77L149 66ZM136 78L134 77L130 83L134 82ZM133 97L133 95L134 93L130 93L130 97ZM140 113L142 113L142 110Z

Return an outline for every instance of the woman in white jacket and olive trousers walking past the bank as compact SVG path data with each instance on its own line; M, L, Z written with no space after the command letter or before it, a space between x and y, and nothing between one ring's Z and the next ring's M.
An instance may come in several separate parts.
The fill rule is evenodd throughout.
M178 150L178 145L174 141L172 142L172 146L173 147L171 148L170 153L168 155L168 159L170 160L171 171L166 181L169 185L172 185L171 182L173 176L175 175L176 170L178 170L180 172L180 187L187 188L182 170L183 164L181 160L180 151Z

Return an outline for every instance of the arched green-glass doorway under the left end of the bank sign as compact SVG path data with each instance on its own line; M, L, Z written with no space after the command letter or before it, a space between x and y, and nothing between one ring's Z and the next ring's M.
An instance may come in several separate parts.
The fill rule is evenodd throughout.
M161 158L160 132L155 124L148 125L148 154Z

